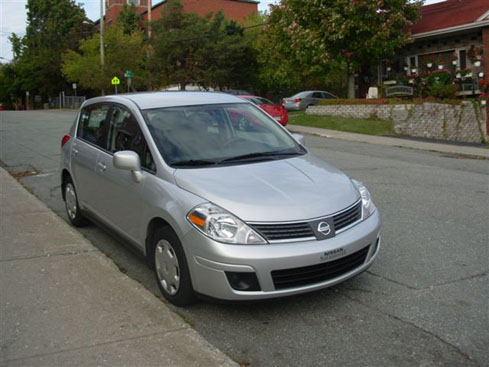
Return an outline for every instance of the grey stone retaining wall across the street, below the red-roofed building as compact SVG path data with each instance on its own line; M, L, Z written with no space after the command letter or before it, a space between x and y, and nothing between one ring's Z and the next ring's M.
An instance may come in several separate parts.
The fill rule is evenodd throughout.
M471 143L487 141L486 109L472 102L458 106L440 103L311 106L306 113L392 120L395 132L401 135Z

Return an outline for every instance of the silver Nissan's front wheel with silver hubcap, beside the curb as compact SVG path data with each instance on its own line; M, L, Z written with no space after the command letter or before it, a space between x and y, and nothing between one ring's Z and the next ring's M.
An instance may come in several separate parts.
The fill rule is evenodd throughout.
M178 236L170 227L158 228L153 236L152 265L163 296L176 306L196 302L187 259Z

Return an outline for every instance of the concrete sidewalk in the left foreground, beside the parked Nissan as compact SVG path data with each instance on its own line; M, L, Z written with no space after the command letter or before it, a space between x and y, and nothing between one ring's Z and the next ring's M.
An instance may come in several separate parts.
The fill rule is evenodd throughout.
M0 168L1 366L237 366Z

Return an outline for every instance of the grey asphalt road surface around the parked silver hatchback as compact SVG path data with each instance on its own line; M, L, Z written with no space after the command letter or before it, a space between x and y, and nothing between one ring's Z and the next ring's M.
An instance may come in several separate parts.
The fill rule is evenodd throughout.
M0 112L1 164L65 219L57 171L74 116ZM489 365L489 161L314 136L306 145L369 187L384 218L374 266L312 294L170 307L243 365ZM130 248L95 225L81 232L159 296Z

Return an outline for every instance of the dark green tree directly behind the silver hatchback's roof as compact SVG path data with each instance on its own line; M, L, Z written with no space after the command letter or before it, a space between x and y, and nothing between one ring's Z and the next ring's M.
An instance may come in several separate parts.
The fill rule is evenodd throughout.
M153 23L153 73L160 85L229 88L250 84L256 57L244 29L222 12L199 17L169 0Z

